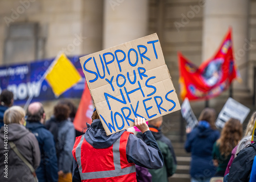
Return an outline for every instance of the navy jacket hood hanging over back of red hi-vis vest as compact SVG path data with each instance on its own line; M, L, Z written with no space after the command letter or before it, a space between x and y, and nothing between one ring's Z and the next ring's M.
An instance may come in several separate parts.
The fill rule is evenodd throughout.
M123 134L124 131L106 136L104 127L100 119L93 120L92 125L87 123L87 131L84 138L94 148L108 148Z

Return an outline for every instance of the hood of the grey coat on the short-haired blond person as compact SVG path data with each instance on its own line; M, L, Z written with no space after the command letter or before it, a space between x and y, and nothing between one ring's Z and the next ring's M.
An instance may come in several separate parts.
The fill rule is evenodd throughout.
M18 123L11 123L8 124L8 140L9 141L15 141L18 140L20 138L22 138L25 135L28 135L30 132L28 131L28 129L22 125L22 124L18 124ZM4 140L4 127L1 127L0 130L0 137L1 139Z

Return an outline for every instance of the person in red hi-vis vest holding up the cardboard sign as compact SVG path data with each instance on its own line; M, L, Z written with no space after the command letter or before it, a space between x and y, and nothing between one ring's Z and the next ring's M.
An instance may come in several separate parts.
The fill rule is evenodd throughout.
M73 182L136 181L135 164L151 169L163 167L161 151L144 118L134 119L143 140L124 130L106 136L96 110L92 119L86 133L76 138Z

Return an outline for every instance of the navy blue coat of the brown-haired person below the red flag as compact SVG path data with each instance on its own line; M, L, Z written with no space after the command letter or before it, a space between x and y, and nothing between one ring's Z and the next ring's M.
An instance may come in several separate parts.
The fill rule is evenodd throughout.
M191 152L191 177L203 179L214 176L216 167L212 163L211 152L219 137L218 130L203 125L196 126L191 133L187 134L185 150Z

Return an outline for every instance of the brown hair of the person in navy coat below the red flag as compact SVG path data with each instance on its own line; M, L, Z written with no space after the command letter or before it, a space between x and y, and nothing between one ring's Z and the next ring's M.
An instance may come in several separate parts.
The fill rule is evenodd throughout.
M201 112L198 120L199 121L207 121L210 124L210 127L212 129L217 129L216 126L215 126L216 112L212 108L205 108Z

